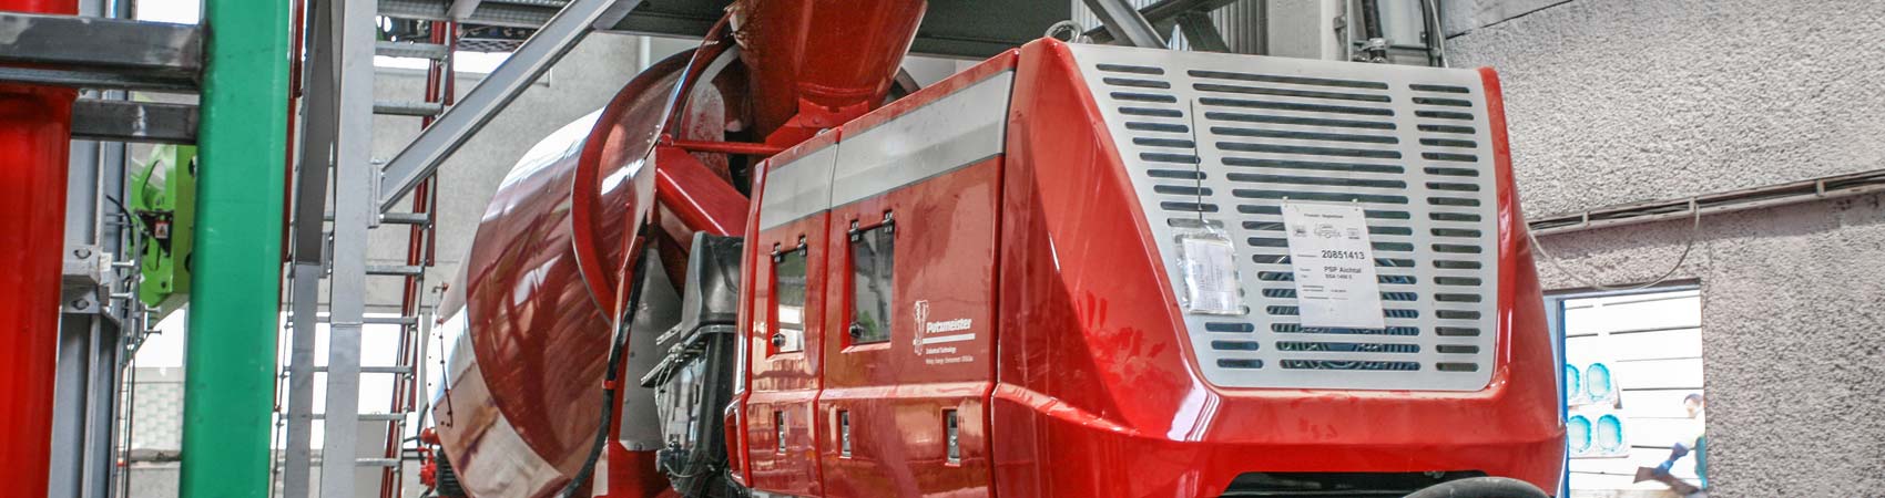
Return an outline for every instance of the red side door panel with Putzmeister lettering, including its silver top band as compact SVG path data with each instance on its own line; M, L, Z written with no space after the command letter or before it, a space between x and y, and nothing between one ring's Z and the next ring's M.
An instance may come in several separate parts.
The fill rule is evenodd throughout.
M846 124L826 229L826 496L988 496L1010 73ZM939 85L941 86L941 85Z

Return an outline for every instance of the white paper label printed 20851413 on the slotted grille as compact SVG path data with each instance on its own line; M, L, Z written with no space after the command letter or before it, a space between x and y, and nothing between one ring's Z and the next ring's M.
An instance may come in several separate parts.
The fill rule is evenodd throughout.
M1303 327L1387 327L1359 205L1284 203L1284 229Z

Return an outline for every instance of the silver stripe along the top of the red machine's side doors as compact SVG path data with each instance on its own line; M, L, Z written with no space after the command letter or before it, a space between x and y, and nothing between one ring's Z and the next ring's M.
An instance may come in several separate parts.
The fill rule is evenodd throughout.
M999 156L1014 71L1001 71L767 173L760 229Z

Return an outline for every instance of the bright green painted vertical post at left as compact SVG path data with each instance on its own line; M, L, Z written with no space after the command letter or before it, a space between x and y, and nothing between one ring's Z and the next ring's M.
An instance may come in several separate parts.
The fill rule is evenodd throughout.
M288 2L205 4L181 496L256 498L268 496L281 329Z

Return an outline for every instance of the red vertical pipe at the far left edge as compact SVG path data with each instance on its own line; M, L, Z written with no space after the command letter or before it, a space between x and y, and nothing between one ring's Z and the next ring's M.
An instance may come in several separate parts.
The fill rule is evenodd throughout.
M74 15L75 0L0 0ZM45 496L66 244L70 88L0 85L0 496Z

